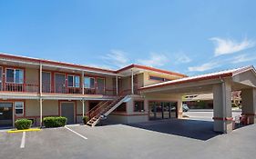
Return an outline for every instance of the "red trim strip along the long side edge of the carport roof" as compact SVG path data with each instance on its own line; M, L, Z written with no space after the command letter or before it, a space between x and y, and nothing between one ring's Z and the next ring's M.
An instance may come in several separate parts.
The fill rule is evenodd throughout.
M189 80L178 81L178 82L175 82L175 83L148 86L148 87L145 87L145 88L139 88L138 90L146 90L146 89L157 88L157 87L168 86L168 85L174 85L174 84L184 84L184 83L190 83L190 82L198 82L198 81L203 81L203 80L216 79L216 78L220 78L220 77L228 77L228 76L231 76L231 75L232 75L232 73L227 73L227 74L222 74L222 75L204 76L204 77L200 77L200 78L193 78L193 79L189 79Z

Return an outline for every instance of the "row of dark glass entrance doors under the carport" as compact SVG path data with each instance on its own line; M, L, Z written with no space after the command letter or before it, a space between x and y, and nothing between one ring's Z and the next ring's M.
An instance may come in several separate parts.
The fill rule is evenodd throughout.
M149 102L149 120L177 118L177 102Z

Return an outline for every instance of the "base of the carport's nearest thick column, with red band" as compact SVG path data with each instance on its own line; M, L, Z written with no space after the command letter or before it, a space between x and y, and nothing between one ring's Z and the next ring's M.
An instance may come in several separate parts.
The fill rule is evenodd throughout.
M214 132L220 132L224 134L231 133L233 130L233 118L232 117L213 117L214 125L213 130Z

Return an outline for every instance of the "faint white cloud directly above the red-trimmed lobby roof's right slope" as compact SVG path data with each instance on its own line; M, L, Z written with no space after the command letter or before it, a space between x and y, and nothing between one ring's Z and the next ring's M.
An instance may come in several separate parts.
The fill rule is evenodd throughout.
M163 54L151 53L148 59L138 59L138 64L148 66L162 66L169 62L169 58Z

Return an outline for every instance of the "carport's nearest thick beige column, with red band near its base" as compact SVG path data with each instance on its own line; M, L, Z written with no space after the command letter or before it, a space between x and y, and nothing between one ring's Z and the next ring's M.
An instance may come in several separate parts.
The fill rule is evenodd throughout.
M213 86L214 131L230 133L232 131L231 84L223 81Z

